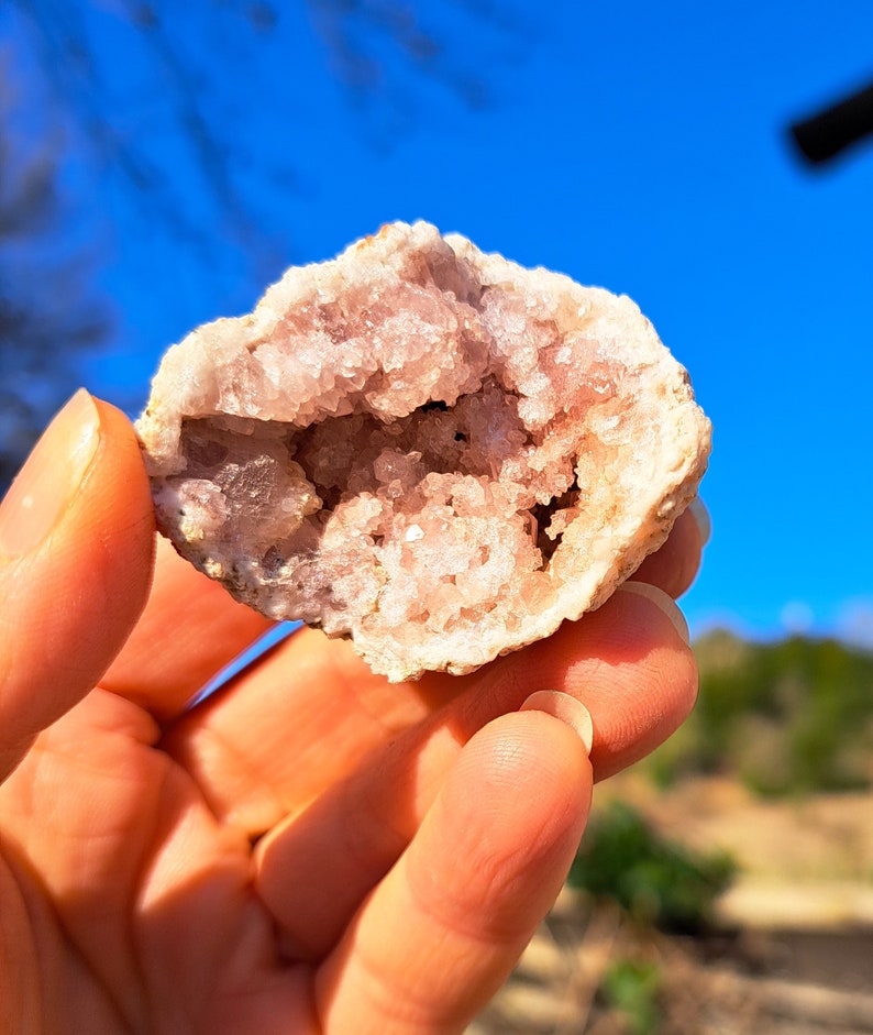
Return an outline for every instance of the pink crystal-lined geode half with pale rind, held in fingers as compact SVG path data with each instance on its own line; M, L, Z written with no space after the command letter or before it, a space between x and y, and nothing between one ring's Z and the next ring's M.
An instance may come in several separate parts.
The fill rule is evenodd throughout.
M599 606L695 496L709 421L628 298L395 223L172 348L137 422L161 530L391 681Z

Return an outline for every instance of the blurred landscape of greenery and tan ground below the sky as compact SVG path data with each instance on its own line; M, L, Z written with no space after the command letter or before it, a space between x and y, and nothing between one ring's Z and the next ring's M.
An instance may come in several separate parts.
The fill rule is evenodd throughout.
M853 910L871 880L857 824L873 805L873 652L807 636L755 642L723 629L699 638L695 652L695 712L596 802L570 873L583 914L615 917L606 938L597 923L582 936L608 962L590 1025L578 1031L715 1031L714 1009L723 1013L718 1031L730 1033L871 1031L873 1014L853 1027L844 1016L852 993L830 989L854 988L853 954L870 945ZM750 847L759 837L776 855ZM761 888L775 894L775 912L755 896ZM787 920L778 902L792 895L805 907ZM737 975L731 1001L723 982Z

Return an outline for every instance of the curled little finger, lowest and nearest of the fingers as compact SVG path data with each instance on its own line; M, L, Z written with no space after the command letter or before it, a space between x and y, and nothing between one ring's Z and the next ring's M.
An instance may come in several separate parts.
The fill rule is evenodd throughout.
M465 746L320 968L325 1035L462 1032L506 980L561 890L590 804L587 747L550 711L504 715Z

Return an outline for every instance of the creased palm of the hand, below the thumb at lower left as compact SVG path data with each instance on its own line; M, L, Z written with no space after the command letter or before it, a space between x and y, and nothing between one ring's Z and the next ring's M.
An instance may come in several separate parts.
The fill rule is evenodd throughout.
M4 856L23 892L16 953L34 965L19 976L10 1031L41 1016L49 1031L185 1031L233 992L234 947L266 947L247 844L216 823L155 737L146 713L95 691L1 792ZM44 960L60 979L47 988Z

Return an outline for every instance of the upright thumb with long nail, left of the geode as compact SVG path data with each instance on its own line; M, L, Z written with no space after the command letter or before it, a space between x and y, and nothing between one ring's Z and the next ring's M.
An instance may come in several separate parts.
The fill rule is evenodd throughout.
M82 389L0 505L0 780L121 649L148 594L153 543L133 428Z

